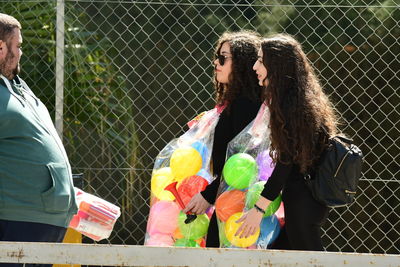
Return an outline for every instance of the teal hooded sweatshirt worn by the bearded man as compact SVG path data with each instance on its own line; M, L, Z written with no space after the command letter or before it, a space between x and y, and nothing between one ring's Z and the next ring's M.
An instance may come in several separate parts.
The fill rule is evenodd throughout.
M71 166L49 112L18 76L0 77L0 219L67 227Z

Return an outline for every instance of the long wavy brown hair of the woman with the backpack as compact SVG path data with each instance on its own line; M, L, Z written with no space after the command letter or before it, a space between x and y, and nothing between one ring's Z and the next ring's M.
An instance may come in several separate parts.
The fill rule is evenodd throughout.
M337 133L337 117L302 47L292 36L261 41L267 69L264 92L270 109L271 157L309 171L328 138Z

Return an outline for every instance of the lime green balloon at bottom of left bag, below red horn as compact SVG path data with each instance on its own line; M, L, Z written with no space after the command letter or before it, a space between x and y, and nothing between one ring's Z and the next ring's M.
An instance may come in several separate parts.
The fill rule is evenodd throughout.
M178 217L178 226L185 239L196 240L207 234L208 224L210 223L210 220L208 219L206 214L197 215L197 218L193 222L188 224L185 223L185 220L186 214L180 212Z

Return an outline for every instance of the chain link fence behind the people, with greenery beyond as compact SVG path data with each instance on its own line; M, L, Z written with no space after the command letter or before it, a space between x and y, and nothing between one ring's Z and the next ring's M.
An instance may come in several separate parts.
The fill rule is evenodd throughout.
M323 228L326 249L400 253L398 0L0 0L0 10L23 26L21 76L52 114L63 111L64 144L83 189L122 208L102 243L143 244L153 161L213 107L218 37L250 29L302 43L342 130L365 154L356 202L333 209ZM60 10L65 45L56 38Z

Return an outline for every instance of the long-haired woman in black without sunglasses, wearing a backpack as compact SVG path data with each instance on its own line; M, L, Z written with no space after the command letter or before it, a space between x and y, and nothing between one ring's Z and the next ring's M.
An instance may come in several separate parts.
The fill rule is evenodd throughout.
M334 109L300 43L289 35L263 39L254 70L271 114L270 150L276 166L255 208L238 220L243 223L236 235L253 234L282 190L285 229L273 248L323 250L320 230L328 208L312 197L302 173L312 173L328 136L336 134Z

